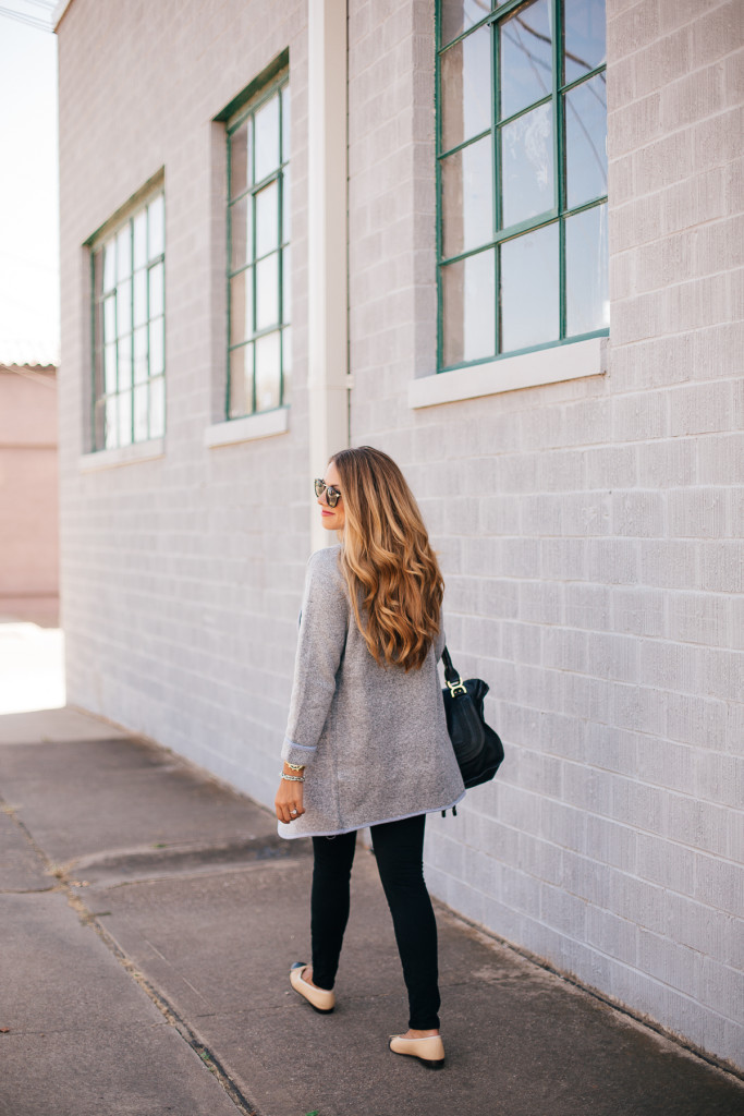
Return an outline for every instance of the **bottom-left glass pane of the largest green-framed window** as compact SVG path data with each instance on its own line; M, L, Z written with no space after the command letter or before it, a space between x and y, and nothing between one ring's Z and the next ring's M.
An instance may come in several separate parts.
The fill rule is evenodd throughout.
M442 268L443 359L462 364L495 352L493 249Z

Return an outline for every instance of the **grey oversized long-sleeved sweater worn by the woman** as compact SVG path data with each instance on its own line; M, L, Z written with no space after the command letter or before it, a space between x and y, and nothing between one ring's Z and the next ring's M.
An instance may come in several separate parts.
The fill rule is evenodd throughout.
M306 812L282 837L347 833L444 810L465 793L447 734L436 660L375 662L354 618L340 547L308 561L282 759L303 763Z

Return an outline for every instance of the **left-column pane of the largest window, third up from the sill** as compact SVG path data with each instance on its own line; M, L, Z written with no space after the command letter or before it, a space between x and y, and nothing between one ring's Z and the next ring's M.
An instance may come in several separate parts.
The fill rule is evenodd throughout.
M491 28L442 56L442 151L491 127Z

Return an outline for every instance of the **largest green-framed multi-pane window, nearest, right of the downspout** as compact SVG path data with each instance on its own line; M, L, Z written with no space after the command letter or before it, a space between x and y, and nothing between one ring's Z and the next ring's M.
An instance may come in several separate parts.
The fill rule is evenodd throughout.
M438 0L438 368L606 334L603 0Z

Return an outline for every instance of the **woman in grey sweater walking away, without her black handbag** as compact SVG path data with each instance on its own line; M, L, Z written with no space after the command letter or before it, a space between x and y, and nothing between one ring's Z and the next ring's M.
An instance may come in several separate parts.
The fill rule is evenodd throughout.
M340 543L308 562L283 768L283 837L311 837L311 964L292 988L317 1011L332 991L349 915L357 830L373 847L408 991L395 1054L438 1069L436 923L424 883L427 812L464 786L447 735L436 661L443 583L400 470L370 446L341 450L315 482L323 527Z

